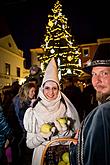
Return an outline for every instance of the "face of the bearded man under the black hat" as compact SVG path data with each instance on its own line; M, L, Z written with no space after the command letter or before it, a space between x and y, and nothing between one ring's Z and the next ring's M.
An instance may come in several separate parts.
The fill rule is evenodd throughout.
M97 100L103 102L110 95L110 67L93 67L92 84L96 90Z

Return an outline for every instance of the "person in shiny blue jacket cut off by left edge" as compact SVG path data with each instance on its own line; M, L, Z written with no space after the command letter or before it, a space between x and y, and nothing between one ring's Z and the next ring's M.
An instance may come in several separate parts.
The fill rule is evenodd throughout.
M13 140L13 132L0 105L0 164L8 165L5 149Z

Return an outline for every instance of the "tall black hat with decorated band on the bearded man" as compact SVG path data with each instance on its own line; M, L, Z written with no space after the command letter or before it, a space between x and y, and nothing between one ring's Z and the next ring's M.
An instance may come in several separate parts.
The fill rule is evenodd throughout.
M110 66L110 43L103 43L97 47L92 61L83 68L83 71L91 73L94 66Z

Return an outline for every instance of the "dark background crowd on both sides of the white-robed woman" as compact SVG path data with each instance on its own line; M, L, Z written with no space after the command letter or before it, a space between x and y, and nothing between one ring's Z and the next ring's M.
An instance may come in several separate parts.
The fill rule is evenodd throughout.
M69 76L61 80L61 90L77 109L81 122L89 111L97 105L95 91L90 80L88 81L82 91L76 78ZM13 132L13 141L9 142L7 148L2 148L5 156L3 163L0 163L1 165L31 165L33 149L26 146L26 132L22 122L26 109L32 106L32 100L37 98L39 87L36 79L31 76L22 85L16 81L8 88L4 87L0 95L0 105ZM31 89L33 89L34 94L32 98L29 98Z

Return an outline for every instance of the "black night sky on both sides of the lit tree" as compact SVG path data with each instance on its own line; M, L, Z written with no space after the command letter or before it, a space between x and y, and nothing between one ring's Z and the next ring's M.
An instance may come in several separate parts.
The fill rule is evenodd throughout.
M40 47L55 0L2 0L5 15L18 48L28 54ZM61 0L62 13L68 18L71 34L78 44L94 43L110 37L110 9L107 0Z

